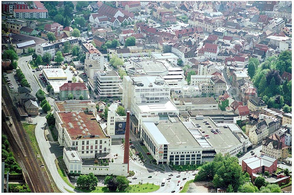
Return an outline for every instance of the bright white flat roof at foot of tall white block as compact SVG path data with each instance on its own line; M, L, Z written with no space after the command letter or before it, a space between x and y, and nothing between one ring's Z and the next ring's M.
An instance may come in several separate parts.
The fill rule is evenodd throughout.
M141 112L169 112L178 110L170 100L161 100L155 103L137 104Z

